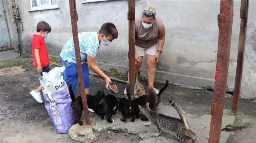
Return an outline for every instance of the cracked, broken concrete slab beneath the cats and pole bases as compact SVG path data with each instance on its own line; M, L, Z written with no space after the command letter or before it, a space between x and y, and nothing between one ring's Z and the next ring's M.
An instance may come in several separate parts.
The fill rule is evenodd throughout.
M164 105L160 103L158 107L158 112L163 113L165 115L179 118L177 111L170 105ZM208 142L211 115L205 114L203 116L196 116L194 114L187 113L186 117L188 118L188 122L191 126L191 130L197 135L197 139L195 143ZM176 139L173 135L170 135L168 133L163 133L159 137L154 137L153 134L157 132L156 128L153 125L145 126L144 124L146 122L141 121L140 119L136 119L135 122L131 122L130 120L127 120L126 122L121 122L120 118L122 118L122 115L119 112L116 115L112 116L112 119L115 120L114 123L108 123L106 119L101 120L100 117L94 113L90 113L90 118L92 122L91 128L94 133L101 133L107 130L127 131L128 133L131 133L131 134L139 134L140 138L142 139L140 143L146 143L146 142L148 143L166 143L166 142L183 143L182 141ZM84 120L84 117L82 117L81 119ZM229 115L227 110L224 111L222 128L225 128L227 125L232 125L234 121L235 121L235 117L233 115ZM74 126L79 127L77 124ZM81 128L82 126L79 127L78 129L80 133L82 133L80 131ZM87 128L84 128L84 129L88 130ZM75 132L76 136L77 136L77 133L79 132ZM74 131L69 132L68 134L69 136L74 136L73 133ZM229 132L221 132L220 143L225 143L228 139L229 134L230 134ZM80 136L79 139L74 138L75 142L80 141L80 142L87 143L88 139L86 136L84 136L83 134L80 134L79 136ZM83 140L86 140L86 141L83 141Z

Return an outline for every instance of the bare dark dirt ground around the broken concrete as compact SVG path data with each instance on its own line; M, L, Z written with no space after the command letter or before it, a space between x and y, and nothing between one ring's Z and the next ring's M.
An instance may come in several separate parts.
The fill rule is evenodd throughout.
M21 61L22 59L16 59ZM28 62L29 63L29 62ZM24 63L22 63L24 64ZM38 104L29 92L38 87L39 74L31 63L25 66L9 64L0 69L0 143L73 143L67 134L57 134L44 104ZM11 66L11 67L10 67ZM113 75L115 76L115 75ZM122 78L122 77L120 77ZM104 89L104 81L91 76L90 93ZM115 82L119 91L123 91L125 84ZM146 82L142 82L147 85ZM160 89L163 85L156 84ZM107 93L108 91L105 90ZM80 94L80 90L77 90ZM161 100L168 104L172 98L189 113L203 115L209 113L213 92L205 89L192 90L180 86L170 85L163 93ZM226 96L225 109L230 109L232 96ZM256 119L256 101L240 100L239 112L251 119ZM242 129L234 132L228 143L256 142L256 128ZM136 143L141 139L138 135L127 132L107 131L100 135L96 143Z

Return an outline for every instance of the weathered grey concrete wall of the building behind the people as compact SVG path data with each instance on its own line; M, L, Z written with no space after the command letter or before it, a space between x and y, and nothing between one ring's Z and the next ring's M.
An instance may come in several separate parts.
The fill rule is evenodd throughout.
M157 64L157 80L169 79L170 82L185 86L213 87L218 32L217 15L220 1L136 1L136 18L147 4L154 4L157 16L166 27L166 40L161 61ZM28 11L29 1L16 1L24 31L20 31L22 50L31 52L32 34L36 24L45 20L52 26L52 32L45 39L49 54L59 55L62 46L72 36L69 2L59 1L59 9ZM111 46L102 46L97 54L101 68L116 68L119 72L128 70L128 1L105 1L82 4L76 1L79 15L78 32L98 31L104 22L113 22L119 30L119 37ZM240 29L240 1L234 1L234 21L230 53L228 90L234 88L236 59ZM244 71L241 97L256 97L256 1L250 1L247 27L247 41L244 58ZM143 63L142 75L146 76Z

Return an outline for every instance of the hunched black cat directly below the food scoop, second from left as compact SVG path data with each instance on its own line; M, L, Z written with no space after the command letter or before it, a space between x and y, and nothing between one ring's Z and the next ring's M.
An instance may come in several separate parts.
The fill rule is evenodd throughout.
M111 94L106 95L103 97L99 102L99 112L101 119L103 120L105 118L105 115L107 116L107 121L109 123L113 123L114 120L111 119L112 115L116 114L116 111L118 109L118 99Z

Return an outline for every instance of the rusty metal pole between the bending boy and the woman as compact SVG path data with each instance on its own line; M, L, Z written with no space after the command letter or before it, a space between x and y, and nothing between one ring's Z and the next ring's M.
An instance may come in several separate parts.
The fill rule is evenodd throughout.
M135 84L135 0L129 0L129 81ZM132 92L133 93L133 92Z

